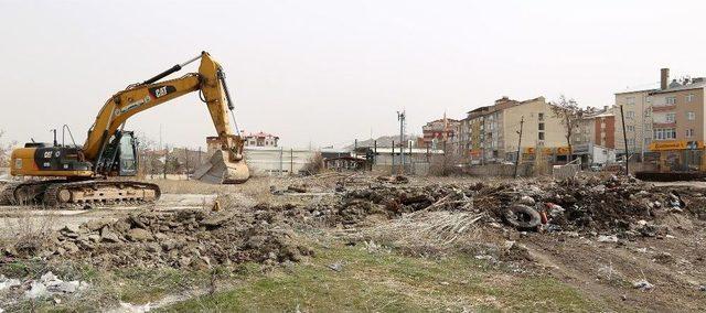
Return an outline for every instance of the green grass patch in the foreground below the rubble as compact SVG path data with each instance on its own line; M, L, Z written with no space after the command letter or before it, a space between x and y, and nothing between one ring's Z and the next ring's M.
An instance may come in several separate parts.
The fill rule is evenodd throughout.
M328 268L343 263L341 271ZM507 278L511 279L501 279ZM574 288L543 277L513 276L468 257L425 259L360 247L318 248L308 262L243 277L227 291L164 312L307 311L597 311Z

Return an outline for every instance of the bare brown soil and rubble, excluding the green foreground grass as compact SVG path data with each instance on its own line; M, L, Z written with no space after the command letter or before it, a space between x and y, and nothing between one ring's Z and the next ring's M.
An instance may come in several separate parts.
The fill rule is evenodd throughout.
M507 285L554 279L601 310L706 306L704 185L613 175L556 182L340 173L257 177L237 186L160 184L164 197L150 207L0 207L0 223L8 225L1 234L6 263L41 259L183 271L245 262L279 267L307 263L320 242L331 241L431 261L466 256L501 265L510 269L503 276ZM543 212L546 224L531 231L513 228L503 213L517 203ZM651 287L635 288L639 281Z

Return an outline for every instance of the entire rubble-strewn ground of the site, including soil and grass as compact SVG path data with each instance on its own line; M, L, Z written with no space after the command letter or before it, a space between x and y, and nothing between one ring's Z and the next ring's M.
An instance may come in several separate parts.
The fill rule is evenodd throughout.
M706 309L704 183L340 173L152 182L163 195L148 206L0 206L0 309ZM547 223L512 226L502 216L517 203L546 207ZM43 289L47 272L78 288Z

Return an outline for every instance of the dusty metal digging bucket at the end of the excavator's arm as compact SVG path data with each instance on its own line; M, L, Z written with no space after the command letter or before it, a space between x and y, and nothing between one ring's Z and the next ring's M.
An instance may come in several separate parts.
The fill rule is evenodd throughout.
M250 177L245 160L231 161L227 151L218 150L196 170L194 177L210 184L242 184Z

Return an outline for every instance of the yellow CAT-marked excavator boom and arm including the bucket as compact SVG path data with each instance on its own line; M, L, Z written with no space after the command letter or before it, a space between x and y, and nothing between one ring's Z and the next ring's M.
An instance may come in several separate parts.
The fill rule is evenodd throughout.
M199 58L199 73L158 82ZM110 97L88 131L83 148L86 160L95 164L96 173L106 174L109 169L104 169L104 164L110 162L105 162L107 155L104 151L111 142L110 139L120 133L130 117L192 91L199 91L201 99L206 104L221 143L221 151L214 154L210 163L196 170L196 177L210 183L245 182L249 172L243 160L243 140L233 131L228 120L228 111L233 114L233 104L225 84L225 74L221 65L206 52Z

